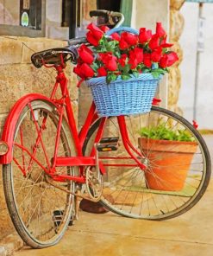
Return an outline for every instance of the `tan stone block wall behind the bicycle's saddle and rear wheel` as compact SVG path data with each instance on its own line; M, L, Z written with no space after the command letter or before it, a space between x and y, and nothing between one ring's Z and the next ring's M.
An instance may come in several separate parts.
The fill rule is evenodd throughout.
M36 51L46 48L63 47L66 42L47 38L28 38L0 36L0 134L9 109L27 93L43 93L50 95L56 73L53 68L35 68L30 56ZM70 94L74 103L75 118L78 118L78 91L76 76L72 74L72 66L66 67ZM1 170L2 172L2 166ZM0 175L0 240L13 231L7 212Z

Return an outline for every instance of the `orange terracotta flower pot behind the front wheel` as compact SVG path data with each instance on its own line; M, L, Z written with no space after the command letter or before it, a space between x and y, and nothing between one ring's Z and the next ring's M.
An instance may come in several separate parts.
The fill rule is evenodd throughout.
M192 157L197 150L196 142L139 138L139 145L141 152L148 154L151 165L145 170L149 189L180 191L184 188Z

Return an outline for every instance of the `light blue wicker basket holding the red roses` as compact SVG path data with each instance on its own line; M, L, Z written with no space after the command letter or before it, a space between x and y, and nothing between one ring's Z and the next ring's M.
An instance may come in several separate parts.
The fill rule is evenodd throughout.
M153 96L159 83L152 74L132 76L129 80L117 80L106 83L106 77L86 80L101 117L132 115L149 112Z

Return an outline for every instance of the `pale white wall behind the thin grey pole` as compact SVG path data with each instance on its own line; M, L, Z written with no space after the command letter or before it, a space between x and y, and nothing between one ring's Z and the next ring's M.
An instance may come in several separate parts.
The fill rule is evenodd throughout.
M198 4L185 3L181 9L185 17L185 29L180 38L184 48L184 59L180 70L182 74L182 86L180 88L179 106L183 109L185 118L193 119L193 103L195 92L195 70L197 52L197 22ZM197 123L199 128L213 129L212 108L212 42L213 42L213 3L204 3L204 52L200 54L197 85Z

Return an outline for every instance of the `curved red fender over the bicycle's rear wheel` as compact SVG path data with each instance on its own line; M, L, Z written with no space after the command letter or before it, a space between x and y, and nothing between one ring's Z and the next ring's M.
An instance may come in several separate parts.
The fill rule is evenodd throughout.
M15 105L12 107L12 109L9 112L8 117L6 118L5 124L3 126L3 135L1 140L3 142L6 142L9 146L8 152L0 156L0 164L7 164L11 163L13 158L12 148L13 148L13 138L15 135L15 129L16 129L16 123L18 121L18 118L23 110L23 108L32 100L36 99L42 99L46 100L48 102L51 102L53 105L53 101L48 99L47 97L38 94L38 93L30 93L25 96L23 96L21 99L18 99L15 103Z

